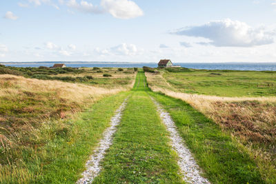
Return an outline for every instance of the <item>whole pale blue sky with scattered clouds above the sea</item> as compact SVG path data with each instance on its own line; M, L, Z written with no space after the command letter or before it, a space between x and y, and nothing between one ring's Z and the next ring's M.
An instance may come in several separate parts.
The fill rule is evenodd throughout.
M276 62L276 0L1 0L0 61Z

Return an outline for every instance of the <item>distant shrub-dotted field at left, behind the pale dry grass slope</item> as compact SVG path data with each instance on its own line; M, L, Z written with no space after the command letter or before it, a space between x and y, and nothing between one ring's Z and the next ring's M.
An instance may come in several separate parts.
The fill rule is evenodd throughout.
M0 65L0 74L13 74L32 79L83 83L100 88L129 88L137 68L16 68ZM104 75L104 76L103 76Z

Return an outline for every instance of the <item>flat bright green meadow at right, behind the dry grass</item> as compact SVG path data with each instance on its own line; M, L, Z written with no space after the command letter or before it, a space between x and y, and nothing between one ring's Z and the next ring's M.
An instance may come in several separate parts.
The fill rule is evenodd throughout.
M164 78L179 92L216 96L275 96L276 72L189 70Z

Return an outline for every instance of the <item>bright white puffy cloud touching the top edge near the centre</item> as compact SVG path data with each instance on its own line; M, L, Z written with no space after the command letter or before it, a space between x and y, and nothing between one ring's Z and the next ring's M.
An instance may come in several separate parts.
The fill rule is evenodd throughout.
M101 6L119 19L132 19L144 14L135 2L129 0L101 0Z

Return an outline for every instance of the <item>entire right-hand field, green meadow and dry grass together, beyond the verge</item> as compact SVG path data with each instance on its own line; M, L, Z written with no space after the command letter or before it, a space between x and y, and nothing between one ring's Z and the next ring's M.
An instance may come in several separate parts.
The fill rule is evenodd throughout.
M276 177L275 72L162 69L147 72L149 87L212 119L233 136L271 183Z

